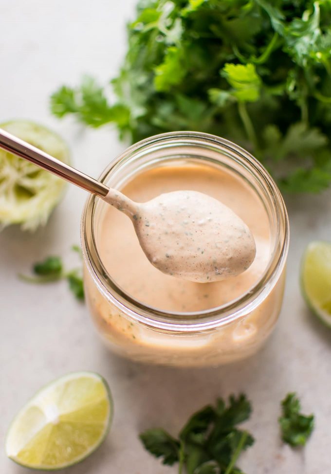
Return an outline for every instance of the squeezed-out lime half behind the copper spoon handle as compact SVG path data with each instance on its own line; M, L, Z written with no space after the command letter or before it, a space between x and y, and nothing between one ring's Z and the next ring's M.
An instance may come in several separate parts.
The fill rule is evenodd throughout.
M0 124L0 128L69 162L69 150L62 138L42 125L15 120ZM48 171L0 149L0 224L22 224L24 230L44 225L60 201L65 184Z

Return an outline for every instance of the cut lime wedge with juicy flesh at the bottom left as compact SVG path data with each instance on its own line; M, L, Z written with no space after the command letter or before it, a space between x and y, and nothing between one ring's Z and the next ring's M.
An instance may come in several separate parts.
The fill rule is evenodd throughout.
M102 443L111 417L110 390L100 375L65 375L43 387L18 412L7 434L7 456L32 469L71 466Z

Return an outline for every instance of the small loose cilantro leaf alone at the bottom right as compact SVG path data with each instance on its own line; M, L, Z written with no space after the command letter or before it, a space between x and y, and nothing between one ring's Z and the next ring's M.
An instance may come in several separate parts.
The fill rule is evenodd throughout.
M301 405L295 393L289 393L281 405L283 413L278 421L282 440L294 447L305 445L313 432L314 416L300 413Z

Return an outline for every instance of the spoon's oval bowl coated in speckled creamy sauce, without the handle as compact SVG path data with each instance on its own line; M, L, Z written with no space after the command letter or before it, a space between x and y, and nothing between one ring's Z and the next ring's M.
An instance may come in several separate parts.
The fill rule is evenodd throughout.
M207 283L244 272L256 254L247 225L197 191L161 194L138 205L132 222L148 260L163 273Z

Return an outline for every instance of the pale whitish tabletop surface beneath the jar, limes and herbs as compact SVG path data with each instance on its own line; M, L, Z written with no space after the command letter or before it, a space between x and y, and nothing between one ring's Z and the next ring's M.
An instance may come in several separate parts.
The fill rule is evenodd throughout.
M74 162L97 176L123 149L111 128L84 130L50 116L48 97L63 81L92 72L106 82L125 49L125 21L134 0L0 1L0 122L26 117L45 123L70 143ZM174 434L193 411L217 396L243 390L253 402L248 427L256 444L240 459L247 474L328 474L331 465L331 331L315 321L301 298L299 260L312 239L330 239L331 195L287 200L291 247L284 306L267 346L240 364L203 370L135 365L100 344L83 305L65 283L34 287L18 272L45 255L74 264L86 195L70 187L48 226L36 234L0 234L0 473L28 472L8 460L4 434L17 410L44 383L73 370L100 372L110 383L115 418L103 446L68 474L170 474L138 441L160 424ZM316 428L303 451L279 440L279 401L297 391Z

